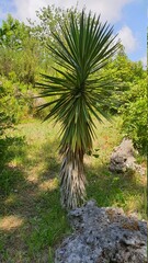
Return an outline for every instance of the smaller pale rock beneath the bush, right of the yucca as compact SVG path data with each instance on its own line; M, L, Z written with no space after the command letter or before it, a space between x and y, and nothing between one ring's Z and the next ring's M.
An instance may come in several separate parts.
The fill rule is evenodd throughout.
M112 172L125 172L128 169L132 169L140 174L145 174L145 170L141 165L136 163L134 155L135 149L132 140L124 138L121 145L114 148L109 169Z

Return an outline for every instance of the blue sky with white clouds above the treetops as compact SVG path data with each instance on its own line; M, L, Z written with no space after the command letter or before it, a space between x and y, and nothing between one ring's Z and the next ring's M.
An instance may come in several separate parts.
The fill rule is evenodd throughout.
M8 13L27 23L26 19L36 20L35 11L43 7L86 9L101 14L102 21L114 25L114 33L118 34L125 52L133 61L147 62L147 0L0 0L0 26Z

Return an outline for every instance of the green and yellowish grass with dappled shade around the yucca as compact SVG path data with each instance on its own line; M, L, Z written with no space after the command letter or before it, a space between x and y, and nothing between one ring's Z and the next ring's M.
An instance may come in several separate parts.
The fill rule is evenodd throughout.
M94 149L86 157L88 199L99 206L123 207L146 218L146 178L112 174L110 156L122 139L119 119L99 124ZM71 232L60 206L58 127L32 119L1 139L0 262L54 262L54 250Z

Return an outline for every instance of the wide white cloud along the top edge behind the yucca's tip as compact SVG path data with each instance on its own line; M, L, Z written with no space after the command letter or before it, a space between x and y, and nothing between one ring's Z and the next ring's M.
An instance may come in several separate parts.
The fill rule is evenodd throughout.
M82 9L84 5L87 10L101 13L102 20L109 22L116 22L122 18L123 8L134 0L13 0L16 8L16 18L26 22L26 18L35 20L35 11L47 4L55 4L56 7L70 8L76 7Z

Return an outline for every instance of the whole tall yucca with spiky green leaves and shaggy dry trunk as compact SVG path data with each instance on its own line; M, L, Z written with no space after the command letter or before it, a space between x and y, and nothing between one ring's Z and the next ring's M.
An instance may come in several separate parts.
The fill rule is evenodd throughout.
M54 100L39 110L49 108L45 121L54 118L61 124L60 170L61 204L66 208L80 206L86 199L83 156L92 149L94 118L102 121L104 98L109 96L113 83L99 77L117 48L113 27L101 23L100 16L87 15L84 11L59 25L53 32L53 45L48 45L56 61L56 77L43 75L38 83L41 96ZM96 73L98 72L98 73Z

